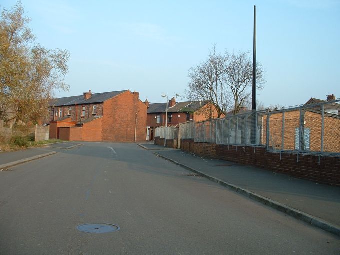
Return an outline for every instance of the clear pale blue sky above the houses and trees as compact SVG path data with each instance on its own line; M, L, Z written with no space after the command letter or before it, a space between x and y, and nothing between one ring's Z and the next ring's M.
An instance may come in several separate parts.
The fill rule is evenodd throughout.
M36 42L70 53L68 92L126 90L150 103L185 90L191 67L218 52L250 51L265 69L264 106L340 98L340 0L21 0ZM9 9L14 0L1 0Z

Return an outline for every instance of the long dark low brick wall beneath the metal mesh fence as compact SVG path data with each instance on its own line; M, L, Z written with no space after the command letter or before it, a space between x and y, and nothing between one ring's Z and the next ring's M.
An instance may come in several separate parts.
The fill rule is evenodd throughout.
M253 165L297 178L340 186L340 158L297 153L268 152L263 147L228 146L181 140L181 150L201 156Z

